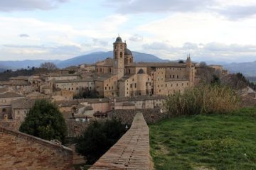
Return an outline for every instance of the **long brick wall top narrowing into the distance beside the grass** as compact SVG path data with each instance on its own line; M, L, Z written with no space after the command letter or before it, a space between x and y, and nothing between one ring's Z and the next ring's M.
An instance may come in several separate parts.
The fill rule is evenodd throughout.
M135 115L132 127L111 147L90 170L152 169L149 154L149 127L142 113Z

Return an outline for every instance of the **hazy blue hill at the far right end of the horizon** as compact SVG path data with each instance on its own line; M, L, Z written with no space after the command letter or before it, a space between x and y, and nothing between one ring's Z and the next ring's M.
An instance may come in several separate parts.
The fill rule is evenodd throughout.
M230 63L224 65L225 69L229 72L241 72L246 77L256 77L256 61L255 62L241 62Z

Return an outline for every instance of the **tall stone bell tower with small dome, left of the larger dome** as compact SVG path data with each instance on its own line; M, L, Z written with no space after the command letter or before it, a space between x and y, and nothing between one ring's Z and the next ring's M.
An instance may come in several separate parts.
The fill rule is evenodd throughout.
M114 57L114 74L117 74L118 79L124 76L124 49L125 43L122 42L122 38L117 37L113 43L113 57Z

